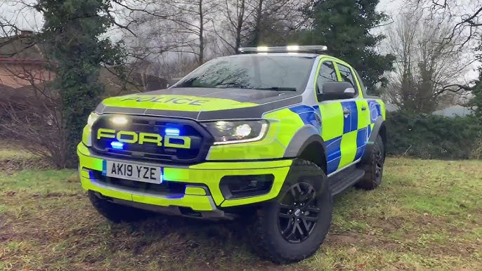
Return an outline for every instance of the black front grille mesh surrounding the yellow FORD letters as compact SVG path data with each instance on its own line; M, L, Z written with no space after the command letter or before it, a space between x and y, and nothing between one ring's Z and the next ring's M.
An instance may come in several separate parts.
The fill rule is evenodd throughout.
M108 157L118 157L130 160L159 161L164 164L195 164L204 161L213 138L196 121L187 119L171 119L159 117L146 117L136 115L124 116L128 119L126 124L114 124L111 114L103 114L92 126L92 147L95 152ZM164 129L178 128L179 135L190 138L190 148L164 146ZM98 129L107 128L115 131L129 131L135 133L155 133L162 135L162 146L152 142L124 143L122 150L112 148L110 143L117 141L114 138L98 138ZM182 144L172 138L170 143Z

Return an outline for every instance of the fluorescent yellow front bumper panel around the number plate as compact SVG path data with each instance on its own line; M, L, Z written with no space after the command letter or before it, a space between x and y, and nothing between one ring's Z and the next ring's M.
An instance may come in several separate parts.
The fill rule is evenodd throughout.
M236 162L207 162L189 167L164 167L164 180L191 183L193 185L206 185L211 193L208 197L199 187L188 187L181 198L159 197L158 195L136 194L120 192L115 189L106 189L96 185L95 180L89 179L86 170L102 171L103 159L92 157L89 150L80 143L77 147L82 176L82 187L85 190L98 191L108 197L127 199L131 201L154 204L158 206L188 206L195 211L209 211L209 199L214 200L216 206L237 206L273 199L278 195L285 181L292 160L280 161L236 161ZM149 163L148 163L149 164ZM152 165L152 164L150 164ZM268 194L242 199L225 199L219 188L223 176L233 175L262 175L273 174L274 183ZM204 195L203 195L204 194Z

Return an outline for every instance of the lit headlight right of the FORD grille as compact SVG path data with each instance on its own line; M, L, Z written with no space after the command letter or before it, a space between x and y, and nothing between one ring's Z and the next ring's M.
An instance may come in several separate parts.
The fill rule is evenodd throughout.
M214 121L204 127L214 136L214 145L261 140L268 131L268 121Z

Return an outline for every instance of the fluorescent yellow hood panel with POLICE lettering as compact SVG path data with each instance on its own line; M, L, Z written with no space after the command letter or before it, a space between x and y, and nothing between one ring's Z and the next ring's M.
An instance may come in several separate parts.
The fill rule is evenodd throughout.
M235 100L205 98L190 95L124 95L103 100L103 105L115 107L161 109L197 112L252 107L256 103Z

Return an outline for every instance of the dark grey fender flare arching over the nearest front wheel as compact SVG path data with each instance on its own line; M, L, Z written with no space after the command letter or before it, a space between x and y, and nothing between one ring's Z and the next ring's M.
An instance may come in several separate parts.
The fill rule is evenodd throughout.
M308 145L311 143L320 143L323 148L324 159L326 161L326 144L323 138L321 138L320 132L314 126L305 125L301 127L296 133L294 133L293 138L289 141L285 154L285 158L299 157L301 152L303 152Z

